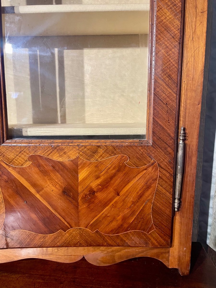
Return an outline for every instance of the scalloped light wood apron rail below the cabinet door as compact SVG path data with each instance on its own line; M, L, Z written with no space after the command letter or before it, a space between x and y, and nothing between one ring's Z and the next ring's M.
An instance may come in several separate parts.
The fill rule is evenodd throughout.
M108 266L134 257L152 257L169 266L169 248L152 247L57 247L1 249L0 263L26 258L72 263L83 257L97 266Z

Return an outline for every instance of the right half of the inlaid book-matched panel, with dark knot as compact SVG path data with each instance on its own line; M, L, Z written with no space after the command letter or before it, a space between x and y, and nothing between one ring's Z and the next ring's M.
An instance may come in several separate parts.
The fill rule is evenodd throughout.
M110 235L154 230L151 206L158 165L152 160L131 168L127 161L124 155L96 162L79 158L79 227Z

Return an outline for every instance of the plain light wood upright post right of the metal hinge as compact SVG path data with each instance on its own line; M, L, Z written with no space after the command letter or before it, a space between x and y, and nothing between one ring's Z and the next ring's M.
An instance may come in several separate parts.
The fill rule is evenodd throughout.
M187 0L179 126L186 131L181 207L174 218L170 268L190 270L194 190L206 43L207 0Z

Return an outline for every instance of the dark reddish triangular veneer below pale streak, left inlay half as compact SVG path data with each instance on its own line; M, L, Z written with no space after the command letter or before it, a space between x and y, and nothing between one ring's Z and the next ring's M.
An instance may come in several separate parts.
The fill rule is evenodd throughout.
M0 163L0 181L5 205L5 221L2 229L6 232L27 230L50 234L67 230L68 226L29 191L14 175ZM49 225L47 225L49 221Z

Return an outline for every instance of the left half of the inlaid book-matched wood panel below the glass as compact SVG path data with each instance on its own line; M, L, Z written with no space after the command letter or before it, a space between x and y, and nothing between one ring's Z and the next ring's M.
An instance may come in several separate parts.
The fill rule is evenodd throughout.
M32 155L26 167L0 164L5 203L3 229L40 234L78 226L78 161ZM16 215L16 217L14 216Z

